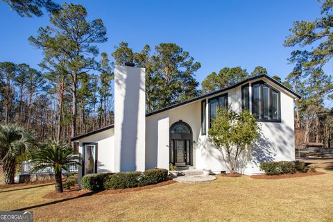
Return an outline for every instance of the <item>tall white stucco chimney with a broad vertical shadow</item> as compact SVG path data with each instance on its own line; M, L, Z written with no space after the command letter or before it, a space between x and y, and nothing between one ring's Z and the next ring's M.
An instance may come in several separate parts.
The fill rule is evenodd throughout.
M114 69L114 171L144 171L146 146L144 68Z

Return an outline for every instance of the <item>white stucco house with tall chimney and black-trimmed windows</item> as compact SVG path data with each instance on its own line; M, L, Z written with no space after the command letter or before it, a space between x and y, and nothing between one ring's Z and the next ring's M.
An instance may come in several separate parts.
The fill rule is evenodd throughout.
M262 135L244 154L240 173L261 173L263 161L294 160L293 104L300 96L266 75L145 113L145 69L116 66L114 125L71 140L83 157L80 176L87 173L169 169L173 163L191 169L228 171L208 137L217 108L248 109L262 125Z

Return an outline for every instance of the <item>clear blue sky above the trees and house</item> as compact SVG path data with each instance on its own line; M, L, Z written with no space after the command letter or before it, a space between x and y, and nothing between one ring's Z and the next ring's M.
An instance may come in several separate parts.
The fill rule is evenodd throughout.
M62 4L65 1L56 2ZM316 0L293 1L66 1L87 8L89 19L101 18L108 42L100 51L110 54L114 45L128 42L134 51L145 44L175 42L201 63L196 79L222 67L241 66L249 72L266 67L271 76L287 76L291 48L283 46L296 20L319 17ZM42 51L28 43L49 17L19 17L0 1L0 62L27 63L38 68Z

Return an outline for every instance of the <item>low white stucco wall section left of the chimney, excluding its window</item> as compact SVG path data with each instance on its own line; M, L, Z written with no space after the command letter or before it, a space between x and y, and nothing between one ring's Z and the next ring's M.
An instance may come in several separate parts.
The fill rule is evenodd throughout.
M114 172L114 129L105 130L79 139L79 153L83 153L84 143L97 143L97 173Z

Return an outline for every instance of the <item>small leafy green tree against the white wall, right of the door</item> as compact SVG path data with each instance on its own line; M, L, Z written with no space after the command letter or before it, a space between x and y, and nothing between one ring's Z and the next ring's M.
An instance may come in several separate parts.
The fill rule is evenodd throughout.
M234 173L241 153L259 137L260 127L248 110L234 112L221 109L212 121L209 136L215 148L223 155L223 160Z

